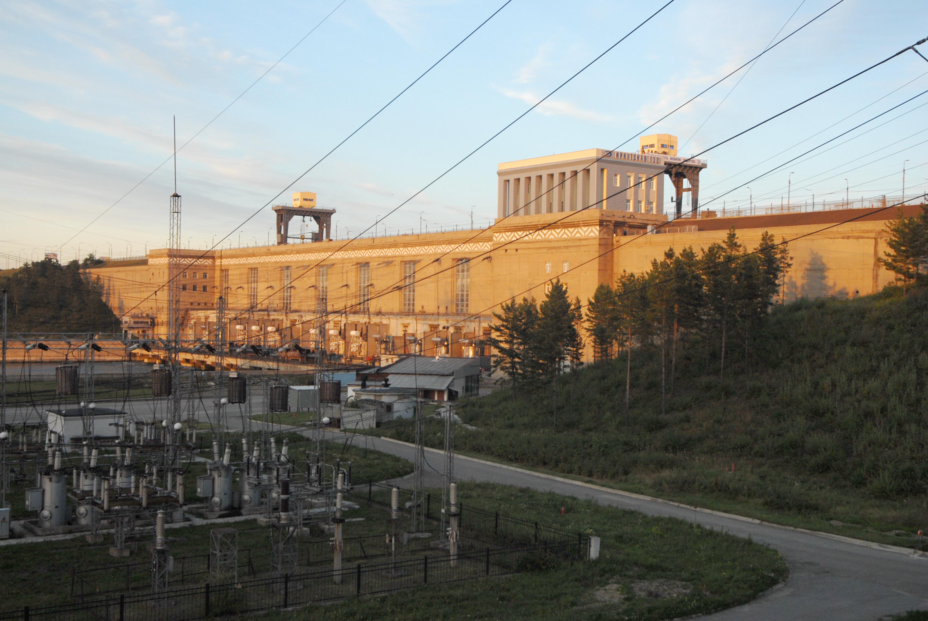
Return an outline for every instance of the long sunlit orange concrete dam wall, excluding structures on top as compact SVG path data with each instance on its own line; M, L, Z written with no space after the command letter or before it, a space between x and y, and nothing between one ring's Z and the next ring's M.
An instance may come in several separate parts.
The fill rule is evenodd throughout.
M659 190L660 192L660 190ZM918 207L907 208L914 213ZM840 210L821 213L787 213L740 218L684 218L667 226L677 231L641 235L647 226L659 226L661 215L617 210L575 213L554 224L563 213L509 218L492 229L453 231L427 235L401 235L380 239L358 239L342 248L343 242L243 248L214 252L187 272L181 280L198 291L181 292L185 337L207 336L215 328L215 300L222 293L223 270L228 270L226 321L231 321L227 338L250 343L278 345L291 338L306 344L319 329L319 268L328 267L329 295L326 325L339 330L331 339L332 349L365 358L384 351L382 343L393 337L393 351L402 349L406 335L423 339L424 354L434 355L432 336L455 342L454 356L480 355L461 340L483 334L499 304L512 297L540 300L549 282L561 278L572 298L592 296L600 282L614 282L623 270L642 272L651 259L660 258L673 247L692 246L696 252L724 239L729 226L752 249L769 230L779 240L792 239L831 226L843 219L862 216L854 223L794 241L790 245L793 269L786 277L782 299L798 296L854 296L879 291L891 275L876 263L883 255L886 220L896 210L871 214L872 210ZM662 229L664 230L664 229ZM683 232L690 230L691 232ZM638 235L636 235L638 234ZM473 239L471 239L473 238ZM190 259L199 256L189 252ZM446 252L446 254L445 254ZM455 312L455 269L458 259L470 259L467 312ZM108 301L117 313L149 312L157 316L156 331L164 333L167 292L156 291L166 280L166 252L149 254L148 266L110 267L92 270L108 291ZM403 311L404 262L416 262L416 312ZM368 264L371 299L362 311L358 270ZM285 307L283 268L290 267L290 305ZM568 270L565 272L565 268ZM257 307L249 310L250 270L257 269ZM205 272L207 278L202 278ZM200 289L205 285L207 291ZM122 304L122 305L121 305ZM244 330L238 330L236 326ZM273 331L269 329L273 328ZM357 330L359 335L351 336ZM380 339L376 337L380 336Z

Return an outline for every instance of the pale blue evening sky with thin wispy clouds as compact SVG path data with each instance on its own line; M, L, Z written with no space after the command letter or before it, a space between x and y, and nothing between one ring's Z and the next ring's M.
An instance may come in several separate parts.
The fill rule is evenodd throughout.
M0 2L0 267L165 247L173 117L185 247L264 245L270 205L299 190L337 210L339 238L378 220L379 235L487 226L499 162L636 150L835 1L674 0L393 213L664 2L511 0L305 175L505 0ZM648 133L679 136L681 154L714 147L914 44L926 18L918 0L844 0ZM903 165L906 194L928 190L926 90L909 51L705 152L702 204L870 204L901 193Z

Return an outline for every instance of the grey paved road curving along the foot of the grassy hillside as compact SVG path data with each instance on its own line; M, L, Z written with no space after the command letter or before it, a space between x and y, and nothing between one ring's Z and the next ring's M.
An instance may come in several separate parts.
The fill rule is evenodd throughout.
M332 436L331 439L339 438ZM361 442L360 438L355 442ZM367 442L371 448L384 453L413 458L412 446L381 438L368 438ZM442 469L441 454L437 451L427 449L426 459L436 470ZM739 537L753 537L754 541L779 550L786 558L791 573L785 586L754 602L705 618L719 621L876 621L882 615L928 609L928 558L694 511L655 498L635 498L461 456L455 459L455 474L458 480L531 487L592 499L601 505L698 522Z

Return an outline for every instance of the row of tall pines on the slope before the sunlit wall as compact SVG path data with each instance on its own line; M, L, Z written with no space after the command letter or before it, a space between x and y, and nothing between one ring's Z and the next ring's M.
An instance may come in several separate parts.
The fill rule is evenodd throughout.
M510 300L494 313L489 340L497 352L494 367L506 373L513 387L535 387L556 381L561 369L579 363L581 330L590 339L595 359L607 360L624 351L627 369L635 347L655 345L661 351L665 409L668 388L674 393L680 343L706 343L707 355L718 353L718 372L724 376L730 343L737 339L749 364L753 339L763 328L791 261L785 242L777 243L770 233L765 232L751 251L732 226L724 241L700 254L691 246L678 253L670 248L643 274L624 272L614 286L600 284L587 300L586 316L580 300L570 302L566 288L556 280L540 305L534 298ZM626 371L626 417L630 377Z

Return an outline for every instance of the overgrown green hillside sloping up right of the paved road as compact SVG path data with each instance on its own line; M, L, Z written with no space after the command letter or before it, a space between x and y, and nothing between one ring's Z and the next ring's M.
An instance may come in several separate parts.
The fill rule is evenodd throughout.
M628 424L624 358L561 379L557 432L550 391L469 400L459 414L477 430L458 431L458 450L923 547L913 533L928 530L928 294L787 304L758 339L751 369L729 345L724 378L715 347L684 346L666 414L660 353L635 350ZM404 426L384 433L411 438Z

